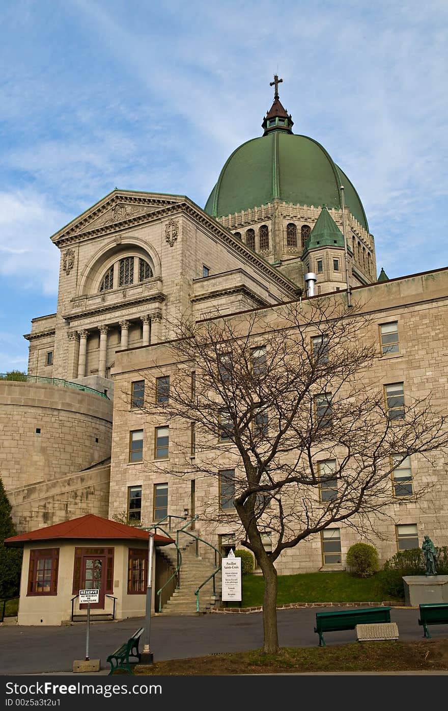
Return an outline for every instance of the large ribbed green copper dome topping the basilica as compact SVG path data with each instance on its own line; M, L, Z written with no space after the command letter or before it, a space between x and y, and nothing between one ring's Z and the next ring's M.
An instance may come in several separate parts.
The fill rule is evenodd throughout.
M285 116L288 116L286 112ZM265 124L266 118L263 127ZM289 130L275 125L262 137L247 141L231 154L205 211L220 218L259 208L274 198L294 205L327 205L340 209L340 186L344 186L347 208L368 232L364 208L349 178L317 141L293 134L290 125L291 121Z

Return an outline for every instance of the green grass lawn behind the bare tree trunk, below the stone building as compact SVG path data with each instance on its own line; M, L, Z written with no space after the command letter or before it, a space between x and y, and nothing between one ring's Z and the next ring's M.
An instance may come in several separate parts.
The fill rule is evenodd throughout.
M263 604L262 575L243 576L242 607ZM358 578L347 572L317 572L278 576L277 604L288 602L383 602L389 600L379 579ZM400 602L397 600L397 602Z

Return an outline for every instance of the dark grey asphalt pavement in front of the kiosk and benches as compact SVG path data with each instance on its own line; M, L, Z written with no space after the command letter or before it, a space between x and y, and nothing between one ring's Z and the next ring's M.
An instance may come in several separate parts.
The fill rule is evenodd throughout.
M278 610L280 646L317 646L314 632L316 611L324 607ZM329 608L336 611L338 608ZM345 609L345 608L340 608ZM421 640L418 609L391 609L390 620L398 625L400 641ZM94 622L90 626L89 657L100 659L102 673L109 670L106 658L141 626L142 617L118 622ZM448 638L448 626L432 627L433 639ZM354 630L328 632L327 646L353 642ZM155 616L151 619L151 651L154 661L200 657L222 652L261 648L261 613L224 613L201 616ZM84 659L86 625L0 627L0 674L67 673L75 659ZM101 673L101 672L100 672Z

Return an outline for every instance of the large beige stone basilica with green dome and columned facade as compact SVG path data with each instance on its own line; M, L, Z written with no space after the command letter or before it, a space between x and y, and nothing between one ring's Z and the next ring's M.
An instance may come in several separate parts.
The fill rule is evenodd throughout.
M60 250L57 311L33 319L25 336L26 382L0 383L1 476L19 531L85 513L127 512L151 525L187 510L199 516L196 533L222 552L234 545L229 526L201 525L204 502L219 502L218 484L214 492L199 479L173 479L167 432L114 398L118 385L143 397L141 373L180 315L275 314L285 302L349 287L368 301L378 330L369 377L386 397L388 387L399 397L434 390L446 403L448 272L378 277L356 189L323 146L293 133L279 81L261 135L229 156L203 209L186 196L114 190L51 237ZM162 469L151 469L154 459ZM378 540L382 560L420 546L423 533L448 544L444 455L402 468L406 486ZM408 503L402 494L417 477L437 486ZM332 537L288 551L278 572L343 569L356 536L341 526Z

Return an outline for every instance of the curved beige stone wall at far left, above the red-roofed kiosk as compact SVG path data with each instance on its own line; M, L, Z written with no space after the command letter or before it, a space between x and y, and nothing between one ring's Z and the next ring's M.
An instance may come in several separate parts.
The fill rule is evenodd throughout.
M112 403L105 397L0 381L0 476L6 493L108 459L111 431Z

